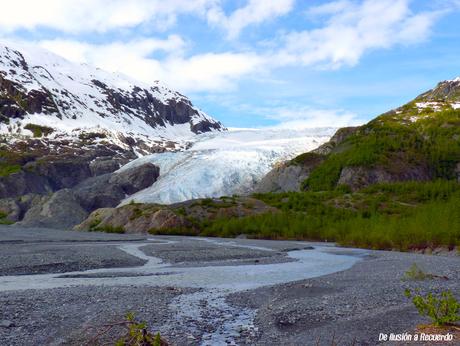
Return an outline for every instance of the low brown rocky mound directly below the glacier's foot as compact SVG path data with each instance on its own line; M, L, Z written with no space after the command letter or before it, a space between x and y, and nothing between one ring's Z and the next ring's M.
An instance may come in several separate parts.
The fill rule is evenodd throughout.
M269 212L277 210L249 197L199 199L169 206L128 204L119 208L98 209L74 229L126 233L181 230L182 233L197 234L200 223L205 220Z

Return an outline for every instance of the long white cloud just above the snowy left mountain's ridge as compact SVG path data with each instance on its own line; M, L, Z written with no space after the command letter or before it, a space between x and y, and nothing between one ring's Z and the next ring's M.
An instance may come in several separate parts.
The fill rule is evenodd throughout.
M121 72L151 84L161 80L183 92L222 92L236 80L257 71L263 59L252 53L206 53L185 57L184 41L176 35L166 40L140 39L91 45L76 41L42 41L41 46L69 60L89 63L112 72ZM161 60L157 51L166 53Z

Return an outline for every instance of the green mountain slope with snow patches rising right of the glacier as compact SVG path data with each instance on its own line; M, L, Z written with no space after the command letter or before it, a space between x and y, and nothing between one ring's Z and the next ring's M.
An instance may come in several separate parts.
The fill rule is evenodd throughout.
M341 129L329 143L285 165L308 171L297 183L312 191L460 179L460 78L441 82L366 125ZM286 169L271 174L278 177Z

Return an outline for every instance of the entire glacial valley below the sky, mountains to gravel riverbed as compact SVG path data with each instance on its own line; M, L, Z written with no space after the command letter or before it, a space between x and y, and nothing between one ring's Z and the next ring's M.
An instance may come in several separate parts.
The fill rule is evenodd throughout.
M422 297L458 306L459 105L456 78L360 126L226 128L159 81L0 45L0 344L414 332Z

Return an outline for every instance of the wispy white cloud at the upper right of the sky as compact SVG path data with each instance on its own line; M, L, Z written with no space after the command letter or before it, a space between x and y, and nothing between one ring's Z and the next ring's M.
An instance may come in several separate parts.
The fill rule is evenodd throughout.
M335 1L309 9L326 16L320 28L285 35L277 64L353 66L368 51L427 39L438 12L414 14L410 0Z

